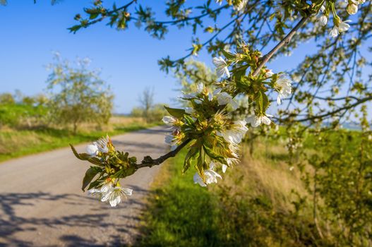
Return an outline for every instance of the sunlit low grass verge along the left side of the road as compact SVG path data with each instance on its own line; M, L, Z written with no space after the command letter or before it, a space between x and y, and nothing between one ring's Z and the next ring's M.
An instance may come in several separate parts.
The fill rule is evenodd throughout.
M90 126L85 126L87 127L85 131L80 131L76 135L73 135L71 131L66 129L57 128L35 128L31 130L1 129L0 162L23 155L66 147L69 143L76 145L78 143L92 141L100 138L102 135L118 135L155 125L157 124L148 124L141 119L116 117L105 131L97 131L90 128Z

